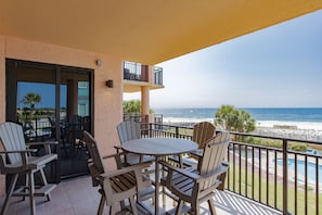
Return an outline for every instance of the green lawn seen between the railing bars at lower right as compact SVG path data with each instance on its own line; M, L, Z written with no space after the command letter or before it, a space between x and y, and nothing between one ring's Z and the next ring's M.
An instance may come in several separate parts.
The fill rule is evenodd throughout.
M229 170L229 187L228 179L226 180L226 187L228 187L231 191L234 191L239 194L253 199L255 201L261 202L263 204L270 205L271 207L279 208L283 211L283 185L281 180L274 185L273 179L269 179L267 181L266 173L261 173L261 177L259 177L258 173L252 174L252 169L247 170L247 175L245 168L241 168L241 180L240 180L240 167L235 165L235 180L233 181L233 167L230 166ZM254 178L254 181L253 181ZM241 181L241 187L240 187ZM254 186L254 192L252 189ZM259 191L260 190L260 191ZM247 192L247 193L246 193ZM294 184L288 184L287 189L287 211L288 213L295 214L295 206L297 206L297 214L315 214L317 206L319 206L319 214L322 214L322 193L319 193L319 204L315 204L317 195L315 190L312 187L308 187L307 191L307 204L305 201L305 189L304 186L298 186L297 188L297 204L295 205L296 198L296 189L294 188ZM276 194L276 198L275 198ZM267 198L268 197L268 198ZM306 213L307 205L307 213Z

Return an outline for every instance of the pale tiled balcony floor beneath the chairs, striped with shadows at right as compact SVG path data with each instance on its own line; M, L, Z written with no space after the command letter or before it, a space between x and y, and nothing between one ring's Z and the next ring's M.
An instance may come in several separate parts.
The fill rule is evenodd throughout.
M52 192L52 200L49 202L46 201L46 198L36 198L36 200L38 215L94 215L98 211L100 194L98 189L92 187L91 178L85 176L64 180L59 184L57 188ZM2 203L3 197L0 198L1 206ZM149 204L149 202L146 202L146 204ZM171 205L172 201L169 200L167 202L167 207L170 208ZM218 215L281 214L272 208L268 208L230 192L218 191L215 198L215 205ZM204 204L202 214L208 214L207 208L207 204ZM13 198L8 214L29 214L28 199L26 199L26 201L21 201L21 198ZM108 214L107 207L104 210L104 214Z

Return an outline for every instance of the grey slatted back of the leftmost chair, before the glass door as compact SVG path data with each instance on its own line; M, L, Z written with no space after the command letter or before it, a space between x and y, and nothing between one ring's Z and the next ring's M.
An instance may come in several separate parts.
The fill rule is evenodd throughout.
M18 124L7 122L0 125L0 138L5 151L26 150L26 142L23 127ZM22 157L18 153L10 153L11 164L21 163Z

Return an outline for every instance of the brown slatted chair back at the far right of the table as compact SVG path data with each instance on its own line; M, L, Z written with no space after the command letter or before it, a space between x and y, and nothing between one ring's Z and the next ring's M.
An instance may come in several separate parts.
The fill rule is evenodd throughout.
M198 143L198 149L204 149L205 144L214 136L215 126L208 122L202 122L193 126L192 140Z

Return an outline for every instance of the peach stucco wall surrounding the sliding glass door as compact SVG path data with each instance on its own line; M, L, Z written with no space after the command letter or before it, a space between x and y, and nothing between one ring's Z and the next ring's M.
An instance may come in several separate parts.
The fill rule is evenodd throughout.
M0 35L0 123L5 121L5 58L92 68L94 71L94 136L102 154L114 153L123 118L121 59ZM96 65L96 60L102 66ZM114 80L114 88L105 81ZM3 178L0 181L3 189ZM0 190L1 191L1 190Z

